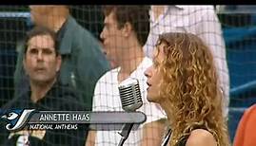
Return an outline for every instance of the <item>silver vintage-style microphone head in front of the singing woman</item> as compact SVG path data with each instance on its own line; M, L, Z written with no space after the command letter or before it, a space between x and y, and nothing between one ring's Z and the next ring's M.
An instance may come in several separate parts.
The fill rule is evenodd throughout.
M139 81L135 78L128 78L118 86L122 108L125 111L133 112L143 104Z

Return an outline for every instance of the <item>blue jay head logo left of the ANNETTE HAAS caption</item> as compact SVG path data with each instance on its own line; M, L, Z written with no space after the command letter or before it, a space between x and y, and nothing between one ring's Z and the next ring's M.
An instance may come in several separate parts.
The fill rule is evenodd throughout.
M29 119L30 114L34 111L34 109L13 109L9 111L4 111L0 119L5 119L8 124L6 125L6 128L10 131L19 130L21 129L27 119Z

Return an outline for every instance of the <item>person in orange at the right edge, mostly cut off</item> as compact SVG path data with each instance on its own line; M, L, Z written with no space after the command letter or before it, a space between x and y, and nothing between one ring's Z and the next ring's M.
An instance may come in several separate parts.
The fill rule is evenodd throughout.
M243 117L240 119L234 146L255 146L256 145L256 104L246 109Z

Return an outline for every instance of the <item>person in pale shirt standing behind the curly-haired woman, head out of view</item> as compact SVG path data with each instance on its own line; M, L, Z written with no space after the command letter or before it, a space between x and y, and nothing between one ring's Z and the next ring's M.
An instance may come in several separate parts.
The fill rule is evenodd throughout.
M150 33L144 50L152 58L159 34L189 32L200 37L209 46L216 65L221 89L225 96L224 115L229 103L229 76L226 64L226 46L221 24L213 6L151 6Z

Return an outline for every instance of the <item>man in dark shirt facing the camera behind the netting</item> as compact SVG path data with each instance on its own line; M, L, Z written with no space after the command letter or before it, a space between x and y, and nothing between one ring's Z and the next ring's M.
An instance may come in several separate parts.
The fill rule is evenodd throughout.
M32 108L47 111L89 110L81 103L81 95L69 84L58 82L61 55L54 31L47 27L34 27L28 33L24 47L23 65L30 82L30 90L10 100L3 109ZM0 125L3 129L4 125ZM77 130L21 130L7 132L1 129L3 145L85 145L87 128ZM3 132L5 131L5 132ZM3 133L2 133L3 132Z

